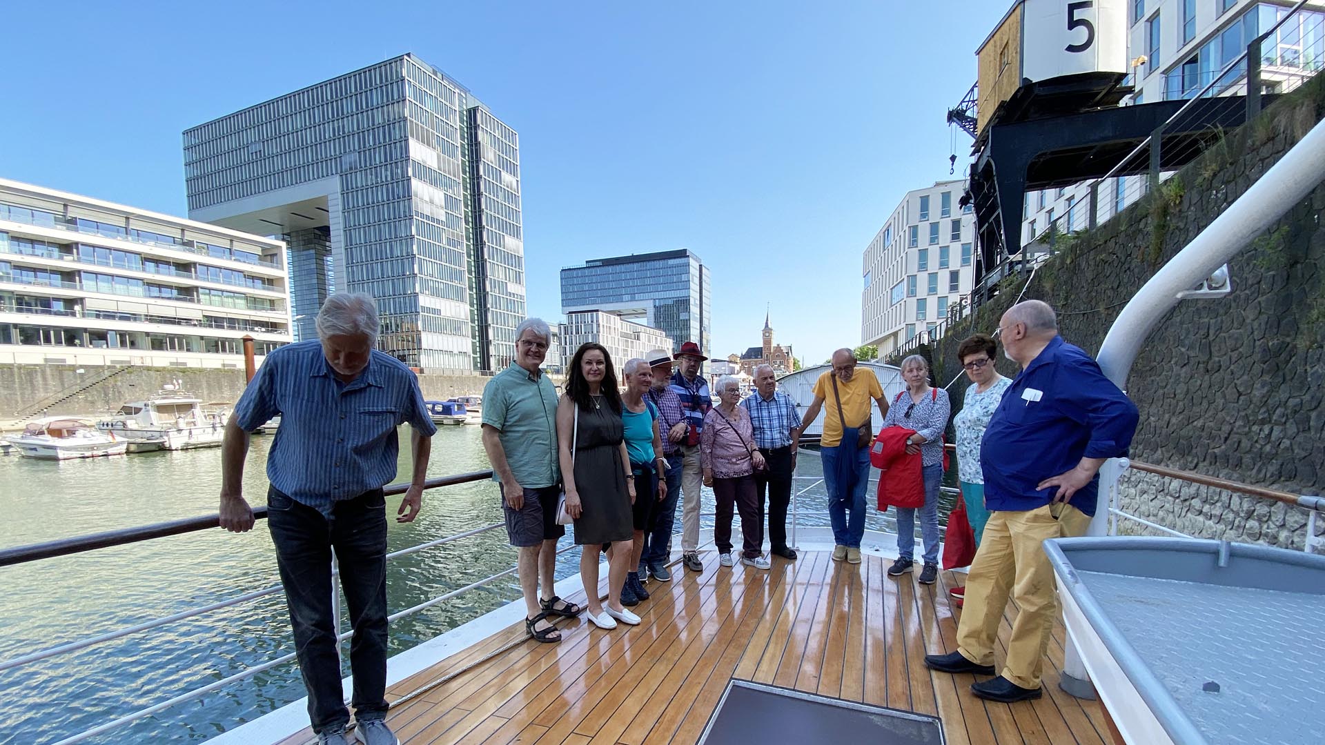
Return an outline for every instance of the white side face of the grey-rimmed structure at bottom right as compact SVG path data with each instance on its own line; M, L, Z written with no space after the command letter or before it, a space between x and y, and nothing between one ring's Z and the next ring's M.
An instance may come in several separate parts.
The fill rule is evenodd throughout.
M1090 673L1100 701L1109 711L1109 717L1129 745L1173 745L1173 738L1142 700L1141 693L1128 680L1117 660L1104 646L1094 627L1086 620L1071 593L1059 593L1063 603L1063 622L1068 627L1069 643L1075 642L1081 652L1081 663Z

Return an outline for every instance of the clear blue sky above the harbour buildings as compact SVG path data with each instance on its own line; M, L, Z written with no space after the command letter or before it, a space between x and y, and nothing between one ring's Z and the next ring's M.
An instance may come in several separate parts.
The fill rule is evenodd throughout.
M1007 5L19 3L0 175L187 215L186 127L415 52L519 133L531 314L560 317L562 266L689 248L717 355L771 302L816 363L860 343L861 252L901 195L949 178L943 114Z

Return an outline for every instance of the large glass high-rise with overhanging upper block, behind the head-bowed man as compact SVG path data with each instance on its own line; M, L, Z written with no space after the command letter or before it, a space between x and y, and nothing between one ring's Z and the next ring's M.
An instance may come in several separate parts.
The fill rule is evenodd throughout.
M404 54L184 133L189 217L289 244L295 333L331 292L378 300L378 346L501 370L525 317L519 137Z

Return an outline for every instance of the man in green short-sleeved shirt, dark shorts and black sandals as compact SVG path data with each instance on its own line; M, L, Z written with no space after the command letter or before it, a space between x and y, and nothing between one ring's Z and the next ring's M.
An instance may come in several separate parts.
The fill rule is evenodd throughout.
M515 362L484 388L484 449L501 487L510 545L519 549L519 587L525 594L525 628L539 642L560 642L549 615L571 618L579 606L553 590L560 467L556 461L556 388L543 375L551 330L539 318L515 329ZM542 585L542 594L539 594Z

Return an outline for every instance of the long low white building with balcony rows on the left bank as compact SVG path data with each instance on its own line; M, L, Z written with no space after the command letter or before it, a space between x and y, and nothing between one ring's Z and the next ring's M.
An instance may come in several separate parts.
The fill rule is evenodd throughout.
M288 301L281 241L0 179L0 365L242 370Z

